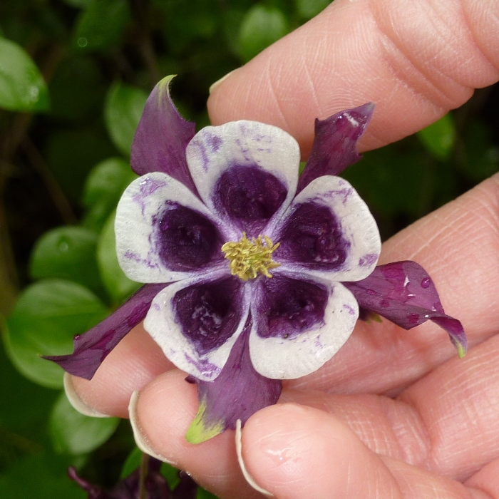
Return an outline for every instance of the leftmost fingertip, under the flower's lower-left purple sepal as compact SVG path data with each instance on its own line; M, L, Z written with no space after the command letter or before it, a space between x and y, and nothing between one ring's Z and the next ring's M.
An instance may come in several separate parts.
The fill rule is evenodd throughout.
M93 379L71 376L71 384L84 406L128 418L132 393L168 369L173 369L173 364L140 324L115 346Z

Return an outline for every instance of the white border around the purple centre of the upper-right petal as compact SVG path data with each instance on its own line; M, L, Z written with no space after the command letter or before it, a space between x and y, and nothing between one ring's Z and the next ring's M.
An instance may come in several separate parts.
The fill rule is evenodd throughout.
M359 281L369 276L376 267L381 252L381 238L376 220L354 187L346 180L331 175L317 178L294 198L276 232L286 226L286 220L292 216L295 208L306 203L329 207L339 222L341 236L348 245L346 259L339 267L329 270L321 267L320 262L302 265L300 262L279 261L276 253L275 259L281 263L281 267L274 272L299 272L336 282ZM279 242L279 235L272 235L272 238L274 242Z

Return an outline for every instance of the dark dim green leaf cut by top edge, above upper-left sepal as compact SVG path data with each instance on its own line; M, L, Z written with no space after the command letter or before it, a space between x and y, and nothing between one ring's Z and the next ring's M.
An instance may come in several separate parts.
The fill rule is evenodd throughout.
M127 0L91 0L78 18L75 46L85 51L100 51L115 46L129 21Z

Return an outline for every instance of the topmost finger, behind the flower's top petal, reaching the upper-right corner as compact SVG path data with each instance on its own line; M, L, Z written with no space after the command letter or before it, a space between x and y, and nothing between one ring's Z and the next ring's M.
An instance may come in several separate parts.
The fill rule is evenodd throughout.
M306 157L315 118L374 102L361 150L380 147L498 81L498 19L495 0L336 0L216 86L210 118L277 125Z

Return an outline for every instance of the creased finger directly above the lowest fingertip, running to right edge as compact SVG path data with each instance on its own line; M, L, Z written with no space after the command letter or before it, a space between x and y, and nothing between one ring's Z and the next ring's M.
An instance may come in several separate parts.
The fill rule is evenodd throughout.
M465 480L499 457L498 355L494 336L396 399L292 390L280 401L330 413L375 453Z

